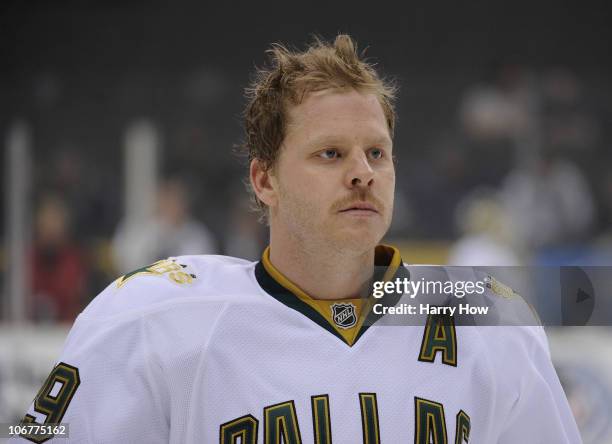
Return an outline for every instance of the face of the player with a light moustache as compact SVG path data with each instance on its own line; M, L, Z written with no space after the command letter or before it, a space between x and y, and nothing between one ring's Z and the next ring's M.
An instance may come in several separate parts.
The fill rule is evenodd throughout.
M320 248L366 252L391 223L392 142L374 94L325 90L289 110L270 177L271 229Z

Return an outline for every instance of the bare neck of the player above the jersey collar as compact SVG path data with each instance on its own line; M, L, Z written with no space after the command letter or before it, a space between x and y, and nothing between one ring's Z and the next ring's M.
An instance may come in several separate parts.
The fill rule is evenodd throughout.
M351 252L307 245L295 237L275 238L272 232L270 262L314 299L358 298L374 274L374 248Z

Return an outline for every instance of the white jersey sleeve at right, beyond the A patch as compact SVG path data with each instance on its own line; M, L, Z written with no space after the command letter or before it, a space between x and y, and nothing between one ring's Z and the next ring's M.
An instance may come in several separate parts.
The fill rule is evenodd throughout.
M502 427L499 444L581 443L582 439L567 398L555 372L544 330L528 327L526 359L510 367L520 368L518 394Z

